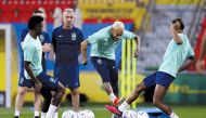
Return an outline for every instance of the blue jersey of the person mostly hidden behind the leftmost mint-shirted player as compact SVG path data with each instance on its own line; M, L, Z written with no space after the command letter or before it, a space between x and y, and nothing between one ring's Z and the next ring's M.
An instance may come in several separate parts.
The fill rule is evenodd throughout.
M21 43L24 41L24 39L26 38L27 34L28 34L29 29L25 28L23 29L22 34L21 34ZM40 41L41 41L41 45L43 45L44 43L51 43L50 41L50 37L46 31L42 31L40 36L38 36ZM20 44L21 45L21 44ZM46 70L46 58L44 58L44 53L42 53L42 67L43 70ZM21 47L21 69L24 69L24 54L23 54L23 50Z

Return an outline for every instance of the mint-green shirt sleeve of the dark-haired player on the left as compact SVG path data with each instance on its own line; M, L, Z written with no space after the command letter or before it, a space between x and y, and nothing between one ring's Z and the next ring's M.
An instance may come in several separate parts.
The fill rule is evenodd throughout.
M23 51L24 51L24 61L31 62L34 52L35 52L35 48L31 45L26 45L26 47L24 47Z

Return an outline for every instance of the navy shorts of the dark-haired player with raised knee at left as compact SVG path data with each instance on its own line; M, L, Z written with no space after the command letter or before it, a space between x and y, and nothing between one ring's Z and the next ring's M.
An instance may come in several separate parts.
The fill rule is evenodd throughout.
M47 88L49 90L56 90L57 84L59 84L59 80L49 75L47 75L44 71L40 73L37 76L37 79L42 83L42 88Z

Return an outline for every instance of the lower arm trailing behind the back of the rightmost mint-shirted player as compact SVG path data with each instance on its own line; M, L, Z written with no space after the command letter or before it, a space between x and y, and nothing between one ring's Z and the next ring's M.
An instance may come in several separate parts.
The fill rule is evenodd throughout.
M195 56L189 56L184 64L179 68L178 73L188 69L191 65L195 64Z

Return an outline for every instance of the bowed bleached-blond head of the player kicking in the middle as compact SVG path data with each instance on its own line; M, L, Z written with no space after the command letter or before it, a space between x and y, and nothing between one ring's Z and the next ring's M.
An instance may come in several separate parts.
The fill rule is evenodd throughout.
M119 40L124 30L125 30L125 25L123 22L114 22L111 28L111 34L113 36L113 39L115 41Z

